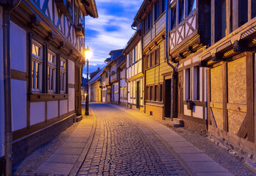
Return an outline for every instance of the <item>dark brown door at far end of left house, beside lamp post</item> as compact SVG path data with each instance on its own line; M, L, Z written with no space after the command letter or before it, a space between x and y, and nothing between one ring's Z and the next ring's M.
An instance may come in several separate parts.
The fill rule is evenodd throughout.
M81 96L81 69L76 66L76 112L77 115L82 114L81 106L82 96Z

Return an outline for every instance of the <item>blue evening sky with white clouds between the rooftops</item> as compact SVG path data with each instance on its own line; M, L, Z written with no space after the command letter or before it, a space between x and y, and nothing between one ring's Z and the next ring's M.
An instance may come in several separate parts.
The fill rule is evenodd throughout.
M89 72L104 67L111 50L122 49L132 34L131 25L143 0L96 0L99 18L85 17L85 47L93 51ZM86 67L83 76L85 77Z

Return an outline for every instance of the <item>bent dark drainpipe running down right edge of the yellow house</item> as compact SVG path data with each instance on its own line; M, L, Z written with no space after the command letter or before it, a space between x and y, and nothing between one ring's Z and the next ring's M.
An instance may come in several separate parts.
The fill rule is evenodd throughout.
M174 79L175 79L175 74L176 74L176 69L174 67L174 65L172 65L170 62L169 62L169 54L168 54L168 40L169 40L169 35L168 35L168 10L169 10L169 4L168 4L168 0L166 0L166 59L167 59L167 64L169 66L171 66L172 68L172 77L171 77L171 121L173 121L174 119ZM171 56L171 55L170 55Z

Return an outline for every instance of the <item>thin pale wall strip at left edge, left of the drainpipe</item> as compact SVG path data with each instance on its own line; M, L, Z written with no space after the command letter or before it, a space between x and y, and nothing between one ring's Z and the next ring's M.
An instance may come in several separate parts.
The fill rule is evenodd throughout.
M0 7L0 26L2 26ZM4 61L3 61L3 29L0 27L0 157L4 155Z

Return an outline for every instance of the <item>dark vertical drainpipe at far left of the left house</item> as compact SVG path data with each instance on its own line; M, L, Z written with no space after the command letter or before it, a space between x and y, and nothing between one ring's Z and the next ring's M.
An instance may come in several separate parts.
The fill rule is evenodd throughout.
M10 83L10 12L18 6L20 0L7 1L3 5L3 51L4 51L4 158L6 175L12 175L12 102Z

